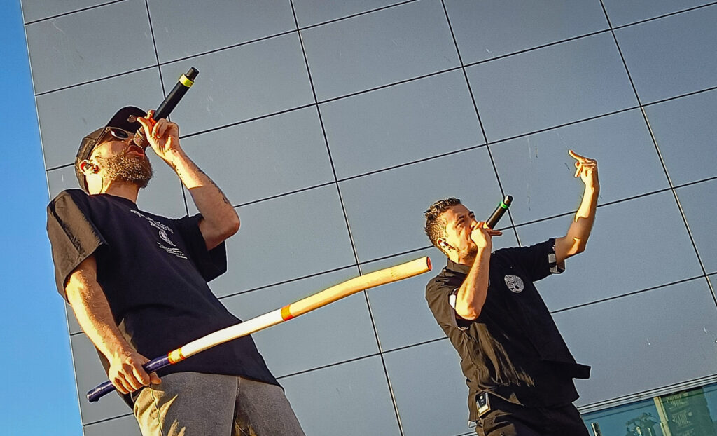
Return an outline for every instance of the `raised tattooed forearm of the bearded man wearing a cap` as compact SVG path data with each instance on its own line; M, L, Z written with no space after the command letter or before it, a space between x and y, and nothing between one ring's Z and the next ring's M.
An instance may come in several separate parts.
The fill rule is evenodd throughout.
M239 230L237 211L234 210L217 184L184 151L180 150L172 154L167 162L189 190L196 208L201 213L204 222L200 223L200 227L202 227L207 248L214 248Z

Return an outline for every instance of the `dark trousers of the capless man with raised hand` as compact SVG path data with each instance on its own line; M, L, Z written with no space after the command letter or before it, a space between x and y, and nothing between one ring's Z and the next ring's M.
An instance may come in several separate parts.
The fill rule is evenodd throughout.
M490 412L478 419L480 436L589 436L574 405L531 409L490 395Z

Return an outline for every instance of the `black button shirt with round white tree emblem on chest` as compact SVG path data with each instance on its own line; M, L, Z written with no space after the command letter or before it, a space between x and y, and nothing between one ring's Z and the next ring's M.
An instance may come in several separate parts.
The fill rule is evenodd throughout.
M555 240L491 254L488 295L476 320L460 318L454 308L469 269L449 259L427 284L426 300L460 355L470 419L478 419L475 396L481 391L526 407L574 402L572 379L587 379L590 367L575 362L533 285L563 271L556 264Z

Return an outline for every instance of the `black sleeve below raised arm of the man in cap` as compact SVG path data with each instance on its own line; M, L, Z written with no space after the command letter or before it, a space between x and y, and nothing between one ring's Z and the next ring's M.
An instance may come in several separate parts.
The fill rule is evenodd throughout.
M199 220L201 214L179 218L175 221L176 228L179 230L181 237L186 242L189 250L189 257L196 268L199 270L201 277L210 282L227 272L227 246L220 243L211 250L206 249L206 241L201 236L199 230Z

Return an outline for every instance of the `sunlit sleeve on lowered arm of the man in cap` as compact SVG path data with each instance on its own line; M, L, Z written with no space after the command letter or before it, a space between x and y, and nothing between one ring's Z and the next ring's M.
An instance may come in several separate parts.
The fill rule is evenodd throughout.
M62 191L47 205L47 237L52 247L54 279L57 292L65 300L67 278L82 261L107 243L91 216L87 203L68 191Z

